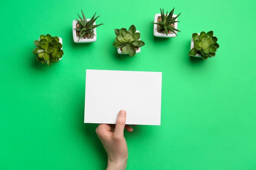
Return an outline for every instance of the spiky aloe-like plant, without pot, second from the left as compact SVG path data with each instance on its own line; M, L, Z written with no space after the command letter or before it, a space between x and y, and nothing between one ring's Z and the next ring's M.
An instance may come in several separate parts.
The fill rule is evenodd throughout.
M81 10L82 11L82 10ZM81 37L84 36L84 34L90 34L90 35L94 35L95 34L93 33L93 28L96 28L98 26L101 26L101 25L104 25L103 23L101 24L98 24L98 25L93 25L93 23L97 20L97 18L99 17L96 17L94 18L96 15L96 12L95 14L93 15L93 17L88 21L85 16L84 16L84 12L82 11L82 16L83 18L80 17L80 15L78 14L80 20L76 19L76 21L81 25L80 27L78 28L74 28L76 31L80 31L81 32L81 35L79 36L79 39L78 41L80 40Z

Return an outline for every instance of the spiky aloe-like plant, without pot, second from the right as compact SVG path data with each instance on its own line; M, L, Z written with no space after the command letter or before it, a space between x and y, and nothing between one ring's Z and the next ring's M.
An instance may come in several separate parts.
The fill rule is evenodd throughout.
M173 12L174 12L174 8L173 8L172 11L169 13L169 15L168 15L168 11L166 12L166 15L164 14L164 11L162 12L161 8L160 8L160 11L161 11L161 18L162 18L162 21L159 22L159 23L152 23L152 24L157 24L157 25L159 25L160 27L158 27L157 29L164 29L166 35L168 35L168 29L171 30L174 34L176 34L175 31L180 32L180 30L177 30L176 28L174 28L174 27L171 26L172 23L178 23L178 22L180 22L180 21L175 21L176 18L180 16L180 14L178 14L176 17L172 17ZM177 35L177 34L176 34L176 35Z

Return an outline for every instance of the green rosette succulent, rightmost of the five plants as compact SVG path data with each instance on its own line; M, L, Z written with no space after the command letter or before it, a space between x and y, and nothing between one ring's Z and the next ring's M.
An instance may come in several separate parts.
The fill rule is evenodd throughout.
M202 31L199 35L197 33L192 34L194 41L194 48L189 52L189 56L194 57L200 52L202 58L207 60L209 57L215 57L215 52L220 47L217 43L218 38L213 36L213 31L205 33Z

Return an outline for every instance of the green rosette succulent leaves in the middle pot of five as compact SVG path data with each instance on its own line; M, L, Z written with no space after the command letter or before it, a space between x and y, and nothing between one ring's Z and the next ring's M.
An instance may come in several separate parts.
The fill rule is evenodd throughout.
M124 54L134 57L136 50L134 47L142 47L145 42L140 40L140 33L136 32L136 27L131 25L127 31L126 28L115 29L116 41L113 46L122 48Z

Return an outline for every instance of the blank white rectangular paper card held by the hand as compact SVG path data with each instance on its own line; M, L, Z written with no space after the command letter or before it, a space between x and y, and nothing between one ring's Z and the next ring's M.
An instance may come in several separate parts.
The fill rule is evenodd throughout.
M84 123L160 125L162 73L86 70Z

